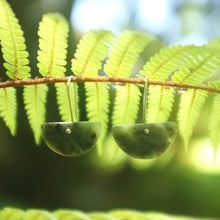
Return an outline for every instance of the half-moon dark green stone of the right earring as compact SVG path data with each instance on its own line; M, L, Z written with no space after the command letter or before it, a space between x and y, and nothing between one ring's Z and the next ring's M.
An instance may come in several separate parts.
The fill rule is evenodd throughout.
M173 143L177 126L175 122L117 125L112 132L125 153L144 159L160 156Z

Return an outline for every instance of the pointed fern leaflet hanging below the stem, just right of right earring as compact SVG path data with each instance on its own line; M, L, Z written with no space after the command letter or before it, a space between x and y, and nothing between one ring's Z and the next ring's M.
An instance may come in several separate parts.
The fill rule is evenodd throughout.
M185 91L181 96L178 123L179 131L184 140L185 147L188 146L193 128L199 118L200 111L207 95L207 91L190 89Z

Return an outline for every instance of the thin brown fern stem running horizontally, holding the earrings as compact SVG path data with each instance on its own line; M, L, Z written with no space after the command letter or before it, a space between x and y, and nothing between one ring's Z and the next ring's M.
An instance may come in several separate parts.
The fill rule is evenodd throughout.
M54 84L54 83L61 83L67 82L69 76L65 77L56 77L56 78L35 78L35 79L27 79L27 80L11 80L6 82L0 82L0 88L5 87L22 87L24 85L35 85L35 84ZM133 84L145 84L144 78L126 78L126 77L111 77L111 76L98 76L98 77L81 77L81 76L74 76L72 77L72 82L114 82L118 83L119 85L123 85L125 83L133 83ZM220 93L220 89L212 88L207 85L188 85L188 84L180 84L173 81L157 81L157 80L149 80L149 85L160 85L163 87L174 87L180 90L187 90L187 89L201 89L206 90L209 92Z

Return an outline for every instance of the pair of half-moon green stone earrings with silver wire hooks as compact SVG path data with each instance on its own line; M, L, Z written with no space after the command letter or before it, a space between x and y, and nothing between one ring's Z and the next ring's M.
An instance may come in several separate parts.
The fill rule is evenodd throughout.
M49 122L41 125L42 138L48 147L63 156L79 156L91 150L101 133L100 122ZM147 79L143 96L143 123L113 126L113 137L118 146L135 158L154 158L162 154L174 141L177 128L175 122L145 123Z

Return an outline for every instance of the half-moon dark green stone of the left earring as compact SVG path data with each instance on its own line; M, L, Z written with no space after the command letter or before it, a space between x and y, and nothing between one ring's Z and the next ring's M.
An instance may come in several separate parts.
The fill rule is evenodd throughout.
M79 156L91 150L101 133L99 122L49 122L41 125L47 146L63 156Z

